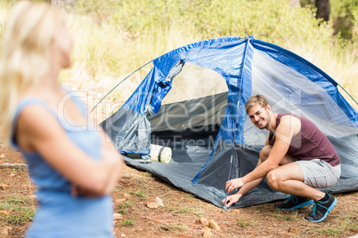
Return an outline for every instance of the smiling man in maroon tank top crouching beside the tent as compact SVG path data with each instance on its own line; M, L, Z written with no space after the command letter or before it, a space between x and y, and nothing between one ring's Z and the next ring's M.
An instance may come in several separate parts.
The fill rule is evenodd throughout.
M237 194L227 197L227 207L238 202L266 176L274 190L290 194L285 202L275 204L277 209L294 210L313 203L305 219L321 222L337 199L316 188L333 186L340 177L340 160L330 140L302 116L273 113L262 95L251 96L245 109L251 122L270 134L255 170L226 183L228 193L240 187Z

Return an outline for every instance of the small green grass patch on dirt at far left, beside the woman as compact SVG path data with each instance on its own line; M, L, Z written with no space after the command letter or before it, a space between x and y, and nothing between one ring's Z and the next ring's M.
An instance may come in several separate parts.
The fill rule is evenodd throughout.
M8 197L0 202L0 210L7 210L7 214L1 214L0 220L13 225L21 225L34 218L35 207L23 197Z

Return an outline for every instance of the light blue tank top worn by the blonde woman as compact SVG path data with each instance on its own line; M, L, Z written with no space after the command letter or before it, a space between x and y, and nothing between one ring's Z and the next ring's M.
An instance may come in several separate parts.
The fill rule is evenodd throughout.
M72 92L69 92L67 96L75 102L78 109L87 118L86 108L82 101ZM58 120L69 139L77 147L94 160L101 159L101 135L94 130L91 123L88 123L89 125L85 128L71 125L40 99L26 98L20 101L12 122L12 131L15 131L20 112L29 105L44 107ZM13 133L12 147L20 149ZM101 198L72 197L69 180L61 176L58 171L53 170L41 155L36 152L26 153L21 151L21 153L28 163L30 177L37 185L37 213L33 223L28 228L26 237L113 237L113 202L109 195Z

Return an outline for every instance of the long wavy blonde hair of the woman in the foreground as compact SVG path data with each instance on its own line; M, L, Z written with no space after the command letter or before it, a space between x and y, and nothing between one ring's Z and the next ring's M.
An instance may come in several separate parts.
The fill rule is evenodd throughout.
M5 23L0 61L0 132L10 144L12 120L21 95L44 82L61 14L51 4L21 1Z

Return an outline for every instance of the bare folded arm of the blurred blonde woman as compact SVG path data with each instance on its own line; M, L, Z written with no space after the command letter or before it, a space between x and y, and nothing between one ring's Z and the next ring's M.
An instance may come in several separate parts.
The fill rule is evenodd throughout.
M105 195L116 186L123 170L121 156L102 134L102 158L94 161L78 148L53 115L38 106L26 107L16 125L18 144L25 151L37 151L74 186Z

